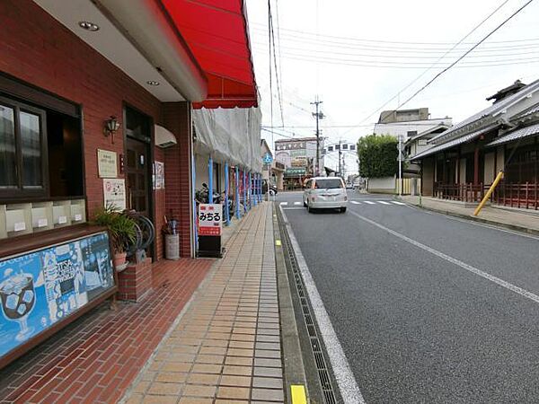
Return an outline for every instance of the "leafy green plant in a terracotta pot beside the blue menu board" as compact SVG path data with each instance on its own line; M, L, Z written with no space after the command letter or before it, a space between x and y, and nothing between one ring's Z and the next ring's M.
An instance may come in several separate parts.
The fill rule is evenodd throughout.
M134 243L137 237L135 221L120 212L116 206L107 205L95 213L93 223L107 227L109 230L114 267L119 268L125 264L126 246Z

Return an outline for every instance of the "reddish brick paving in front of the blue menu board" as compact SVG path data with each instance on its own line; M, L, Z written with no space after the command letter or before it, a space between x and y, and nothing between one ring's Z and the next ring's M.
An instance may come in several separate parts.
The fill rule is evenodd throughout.
M103 303L0 371L0 402L112 403L146 364L214 261L180 259L152 267L154 291L140 303ZM192 358L179 350L171 356ZM171 362L181 364L181 362ZM183 383L152 385L179 393ZM163 401L161 401L163 402Z

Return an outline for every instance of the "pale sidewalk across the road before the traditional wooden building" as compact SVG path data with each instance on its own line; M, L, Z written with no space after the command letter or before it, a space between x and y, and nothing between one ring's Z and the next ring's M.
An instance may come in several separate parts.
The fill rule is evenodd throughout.
M403 196L402 201L420 206L419 197ZM539 234L539 215L536 215L534 211L525 213L500 207L485 206L478 216L474 216L474 206L464 206L464 204L429 197L421 198L421 207L485 224L494 224L520 232Z

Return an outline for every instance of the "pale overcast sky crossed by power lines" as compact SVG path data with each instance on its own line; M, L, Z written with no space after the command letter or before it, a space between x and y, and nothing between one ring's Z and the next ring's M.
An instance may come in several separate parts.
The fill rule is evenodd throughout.
M318 95L327 116L326 143L356 142L372 133L381 111L376 109L385 101L423 74L384 107L395 109L526 2L508 0L437 60L505 0L271 0L284 118L284 127L275 131L313 136L309 102ZM247 10L263 125L270 127L268 2L247 0ZM448 116L456 123L489 106L485 98L515 80L539 79L538 27L535 0L402 109L428 107L431 118ZM438 65L425 73L433 63ZM273 77L273 125L282 126ZM271 142L269 132L262 136ZM347 163L354 161L350 156ZM334 157L326 160L335 164Z

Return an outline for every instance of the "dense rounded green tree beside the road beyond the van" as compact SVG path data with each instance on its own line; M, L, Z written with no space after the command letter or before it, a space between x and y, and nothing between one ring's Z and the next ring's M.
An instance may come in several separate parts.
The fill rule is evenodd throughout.
M392 177L398 170L397 139L391 135L369 135L358 140L359 174L362 177Z

